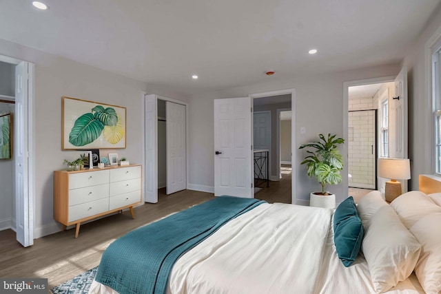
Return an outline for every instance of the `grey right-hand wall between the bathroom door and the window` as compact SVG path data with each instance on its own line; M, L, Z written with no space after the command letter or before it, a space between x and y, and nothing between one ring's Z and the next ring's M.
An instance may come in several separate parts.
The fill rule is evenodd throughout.
M418 175L433 174L433 115L429 95L431 54L425 46L433 36L441 36L441 6L438 7L418 41L409 48L403 61L407 67L409 95L409 158L411 180L409 190L418 190Z

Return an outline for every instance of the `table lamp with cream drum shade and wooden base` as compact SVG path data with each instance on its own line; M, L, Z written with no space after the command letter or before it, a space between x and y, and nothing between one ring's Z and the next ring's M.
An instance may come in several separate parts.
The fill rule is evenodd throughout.
M387 202L401 195L401 183L397 180L411 178L411 166L408 158L378 158L378 176L389 178L384 188L384 198Z

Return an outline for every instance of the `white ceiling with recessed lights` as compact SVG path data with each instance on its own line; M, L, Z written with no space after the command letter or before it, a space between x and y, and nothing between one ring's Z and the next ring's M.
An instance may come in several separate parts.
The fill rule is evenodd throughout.
M0 1L0 39L187 96L399 62L440 3L43 1Z

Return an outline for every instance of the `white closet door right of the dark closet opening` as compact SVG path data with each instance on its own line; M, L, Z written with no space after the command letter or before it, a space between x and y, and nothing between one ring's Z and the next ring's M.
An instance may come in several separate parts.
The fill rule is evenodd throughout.
M166 102L167 195L187 189L185 105Z

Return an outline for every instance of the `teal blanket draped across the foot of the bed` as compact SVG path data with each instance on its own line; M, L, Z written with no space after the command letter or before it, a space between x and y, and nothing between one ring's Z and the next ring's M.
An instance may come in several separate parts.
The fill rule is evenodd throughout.
M104 251L95 280L121 294L165 293L176 260L265 201L222 196L136 229Z

